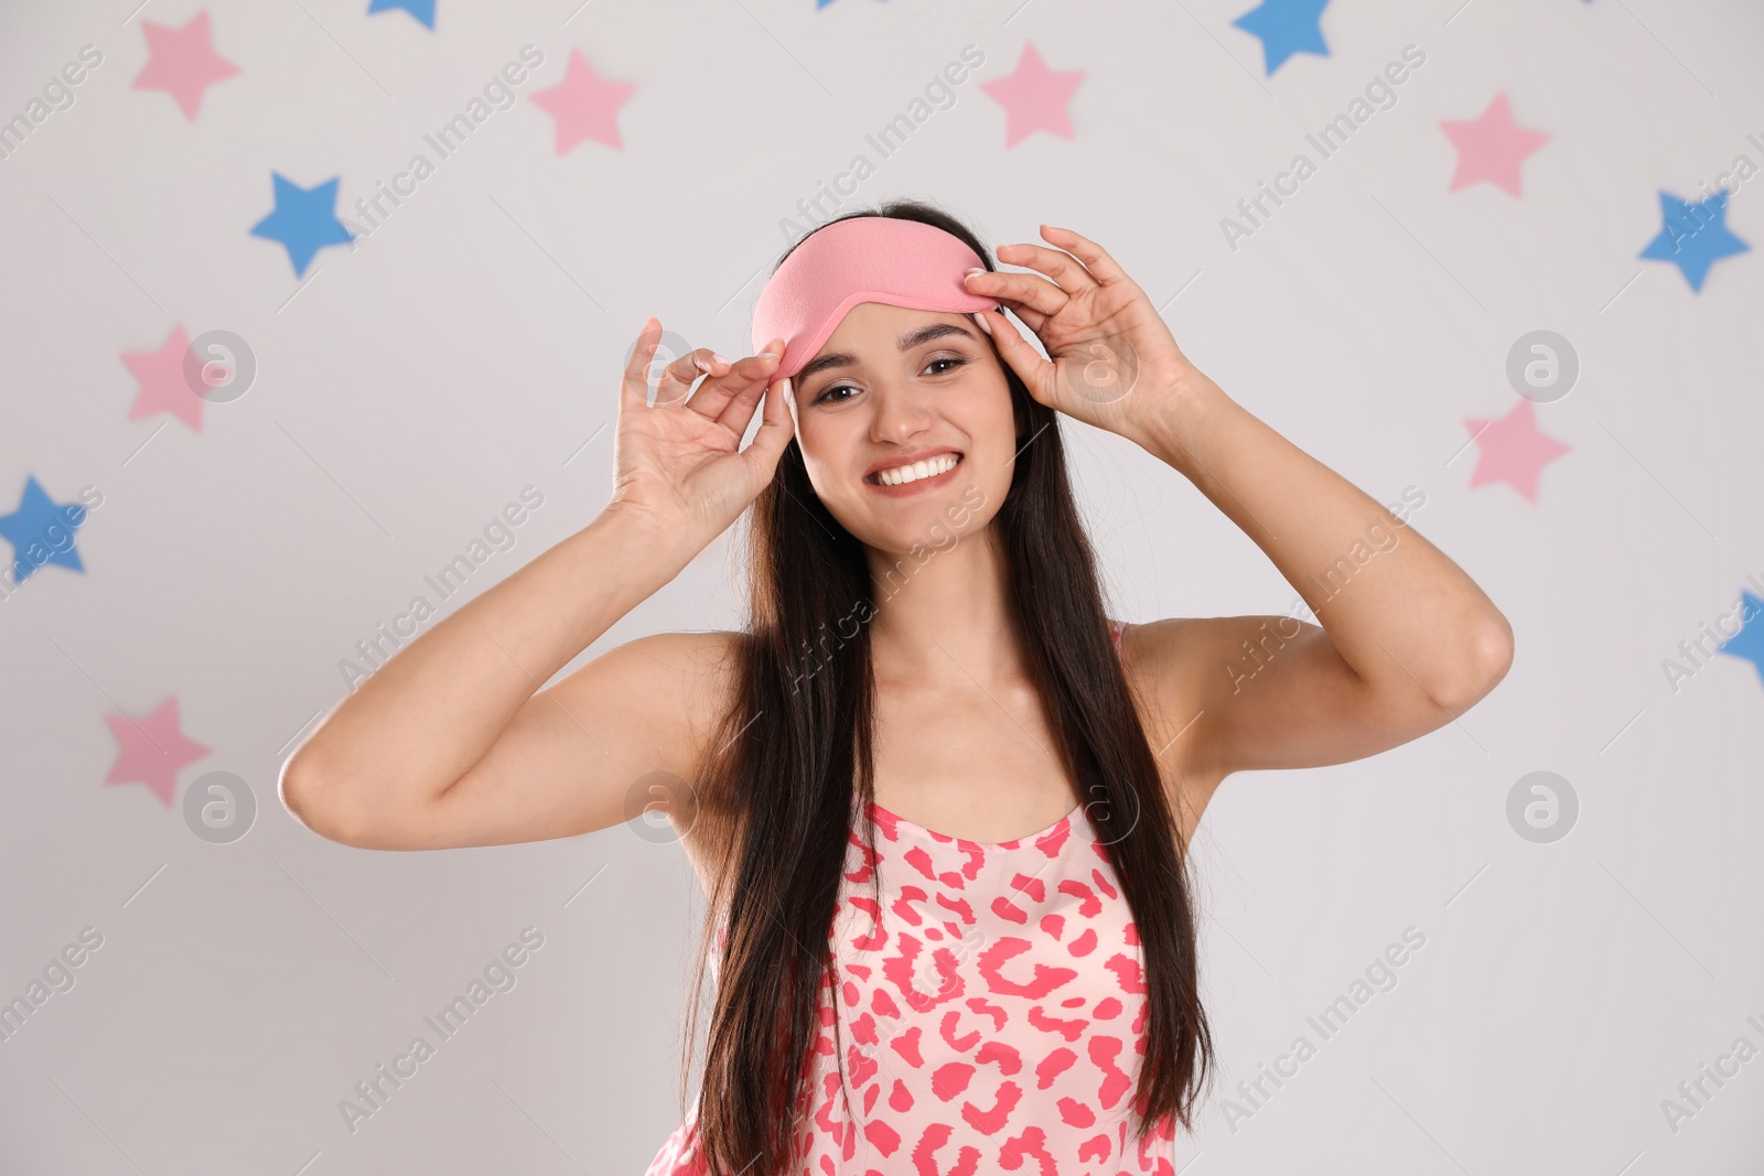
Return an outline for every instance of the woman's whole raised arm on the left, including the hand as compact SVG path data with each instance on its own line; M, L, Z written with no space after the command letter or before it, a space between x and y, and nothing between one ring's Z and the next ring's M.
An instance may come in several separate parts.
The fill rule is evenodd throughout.
M607 510L332 709L282 769L282 802L309 829L381 850L566 837L626 820L640 778L690 776L729 635L639 638L540 691L746 510L790 435L783 381L767 395L781 346L734 365L683 356L649 406L651 324L624 372ZM695 360L711 376L688 398Z

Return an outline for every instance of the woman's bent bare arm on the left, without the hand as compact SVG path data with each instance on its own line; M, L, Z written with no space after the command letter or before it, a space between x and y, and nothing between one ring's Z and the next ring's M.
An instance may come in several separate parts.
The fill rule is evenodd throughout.
M288 808L374 850L623 820L621 783L691 755L679 716L700 638L640 638L534 691L690 562L637 524L609 510L402 649L288 760Z

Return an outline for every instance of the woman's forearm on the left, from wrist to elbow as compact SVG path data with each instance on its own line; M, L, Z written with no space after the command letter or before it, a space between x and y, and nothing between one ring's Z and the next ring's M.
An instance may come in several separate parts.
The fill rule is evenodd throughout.
M434 800L557 670L691 562L702 543L605 510L400 649L289 758L284 792ZM363 797L358 797L363 799Z

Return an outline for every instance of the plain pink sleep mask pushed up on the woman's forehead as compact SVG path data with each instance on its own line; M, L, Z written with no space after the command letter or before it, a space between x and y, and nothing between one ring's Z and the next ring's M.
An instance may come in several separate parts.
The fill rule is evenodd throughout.
M773 379L796 376L861 301L974 314L998 300L961 284L986 268L961 238L898 217L852 217L810 233L766 282L753 307L753 351L783 339Z

